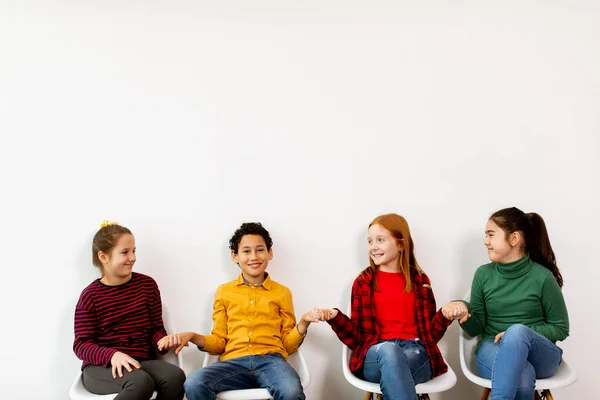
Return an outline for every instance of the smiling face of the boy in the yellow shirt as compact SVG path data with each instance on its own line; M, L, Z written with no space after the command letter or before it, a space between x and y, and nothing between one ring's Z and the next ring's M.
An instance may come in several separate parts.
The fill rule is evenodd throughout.
M242 269L244 279L256 285L265 279L265 270L273 259L273 249L267 249L265 239L260 235L244 235L237 252L231 251L231 259Z

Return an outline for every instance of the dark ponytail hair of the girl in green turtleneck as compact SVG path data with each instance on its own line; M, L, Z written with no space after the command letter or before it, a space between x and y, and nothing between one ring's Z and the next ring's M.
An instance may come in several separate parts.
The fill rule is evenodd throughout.
M507 235L521 232L525 242L525 252L533 261L552 271L558 286L562 287L562 275L556 265L556 256L550 244L548 230L544 219L539 214L524 213L517 207L511 207L496 211L490 219Z

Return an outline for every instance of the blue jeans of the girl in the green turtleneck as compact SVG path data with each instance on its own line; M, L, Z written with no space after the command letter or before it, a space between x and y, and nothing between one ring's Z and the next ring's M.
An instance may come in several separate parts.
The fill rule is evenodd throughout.
M477 353L477 370L492 380L490 400L531 400L536 378L549 378L562 361L562 350L525 325L512 325L499 343L488 339Z

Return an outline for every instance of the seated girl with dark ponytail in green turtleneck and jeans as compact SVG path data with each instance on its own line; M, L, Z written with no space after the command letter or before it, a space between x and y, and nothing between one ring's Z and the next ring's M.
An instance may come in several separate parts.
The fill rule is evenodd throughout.
M562 360L555 343L569 336L562 276L536 213L495 212L484 244L492 262L475 272L470 301L442 311L469 335L481 335L477 369L492 380L491 400L531 400L536 378L554 375Z

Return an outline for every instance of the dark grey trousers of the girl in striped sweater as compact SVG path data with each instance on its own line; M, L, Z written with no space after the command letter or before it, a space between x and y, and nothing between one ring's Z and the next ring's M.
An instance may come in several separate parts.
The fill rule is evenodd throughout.
M118 393L115 400L148 400L158 392L158 400L183 399L185 373L176 365L162 360L140 362L142 368L132 372L123 368L123 377L112 376L112 367L88 365L83 370L83 386L94 394Z

